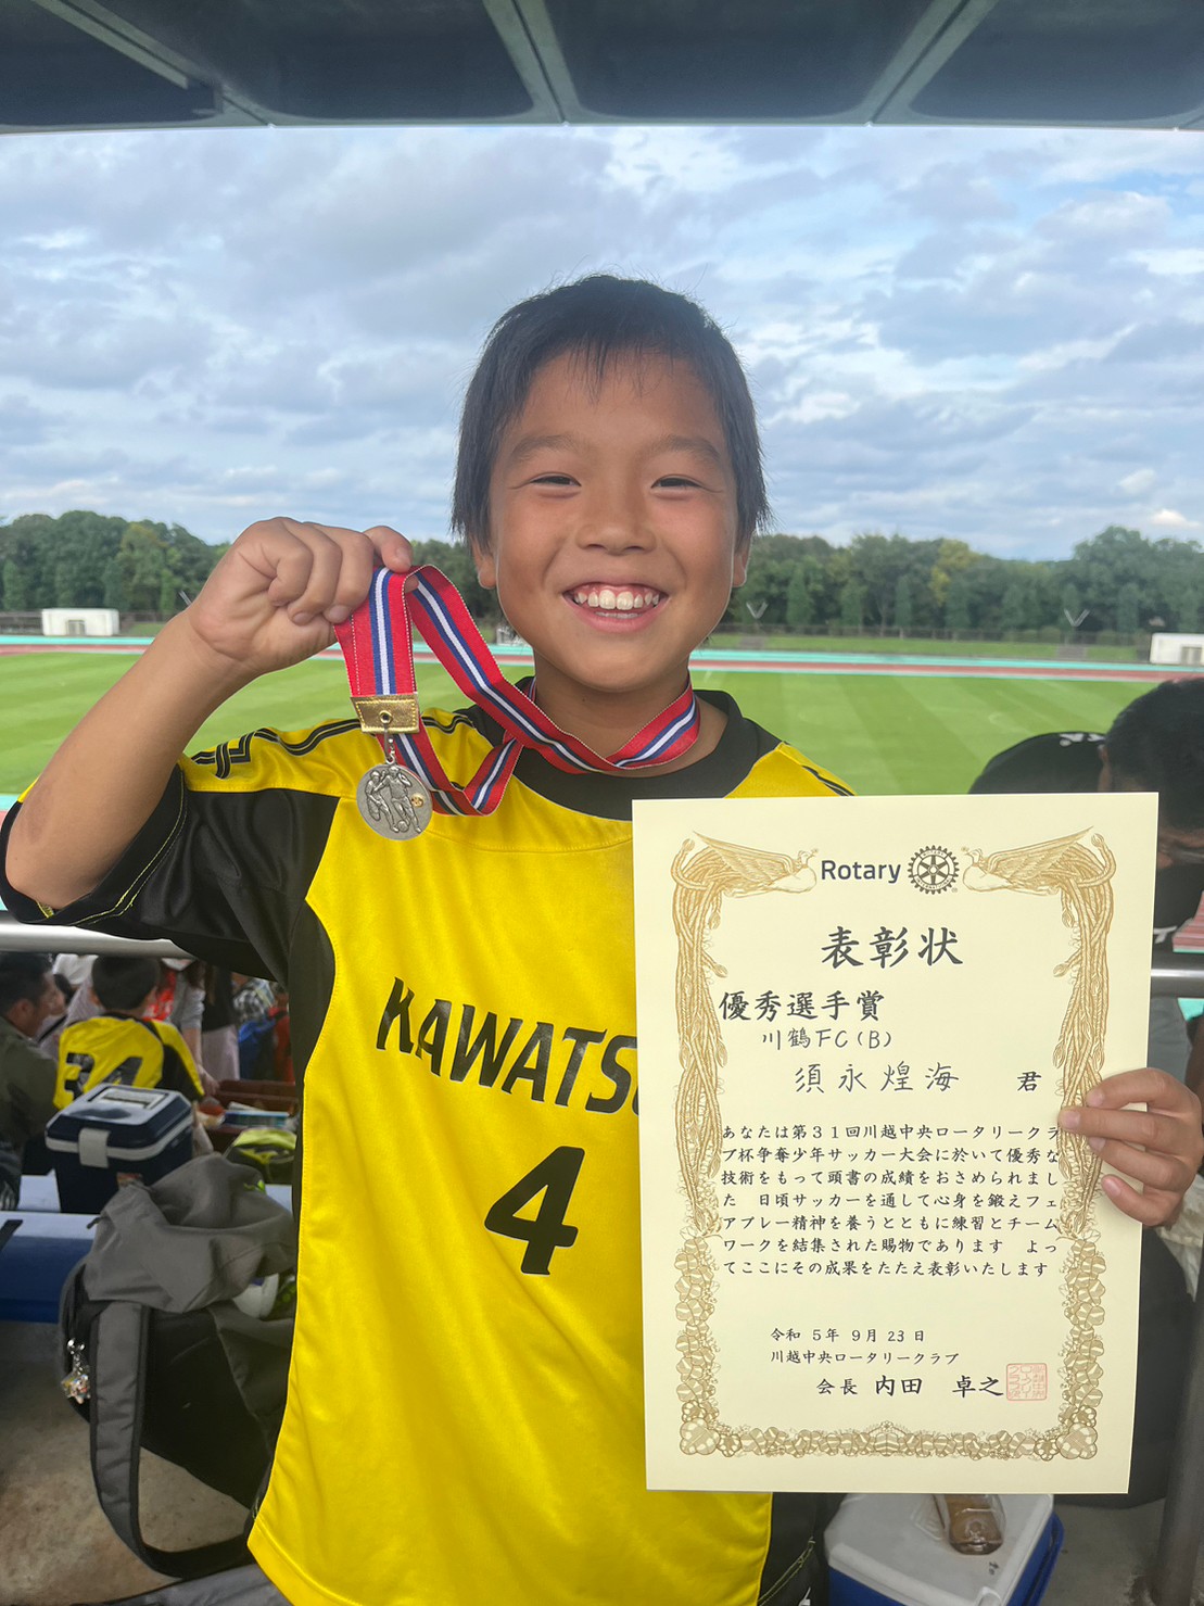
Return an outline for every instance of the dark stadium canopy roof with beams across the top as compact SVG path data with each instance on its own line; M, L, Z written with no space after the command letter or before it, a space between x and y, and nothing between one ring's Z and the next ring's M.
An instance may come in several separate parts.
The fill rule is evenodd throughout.
M1202 0L0 0L0 132L1204 127Z

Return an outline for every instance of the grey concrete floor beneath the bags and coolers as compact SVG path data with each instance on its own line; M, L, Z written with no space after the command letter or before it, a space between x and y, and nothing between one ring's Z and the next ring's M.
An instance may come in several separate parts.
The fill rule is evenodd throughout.
M88 1431L58 1372L53 1327L0 1323L0 1606L80 1606L162 1582L101 1516ZM144 1458L141 1498L148 1537L169 1548L223 1539L244 1516L157 1457ZM1066 1543L1042 1606L1141 1606L1137 1580L1154 1558L1161 1505L1058 1511Z

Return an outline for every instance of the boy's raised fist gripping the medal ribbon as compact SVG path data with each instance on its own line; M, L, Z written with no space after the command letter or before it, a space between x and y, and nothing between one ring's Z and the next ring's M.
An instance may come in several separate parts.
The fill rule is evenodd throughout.
M409 541L388 525L265 519L234 541L183 618L204 652L250 681L329 647L382 564L413 564Z

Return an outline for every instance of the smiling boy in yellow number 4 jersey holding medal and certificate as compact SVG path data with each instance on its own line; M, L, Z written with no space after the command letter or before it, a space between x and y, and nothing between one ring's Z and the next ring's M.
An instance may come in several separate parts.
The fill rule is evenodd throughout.
M458 800L504 779L509 728L427 711L438 806L416 834L422 785L398 801L353 719L180 761L231 692L329 647L411 567L393 528L271 519L10 814L24 919L169 933L289 988L297 1336L250 1548L294 1606L796 1606L816 1582L812 1497L644 1478L631 805L846 790L689 692L764 517L718 326L641 281L560 286L485 347L454 522L530 642L536 724L612 760L639 736L660 763L563 768L523 739L474 813ZM1129 1179L1104 1184L1119 1208L1173 1214L1194 1095L1133 1071L1092 1099L1068 1119Z

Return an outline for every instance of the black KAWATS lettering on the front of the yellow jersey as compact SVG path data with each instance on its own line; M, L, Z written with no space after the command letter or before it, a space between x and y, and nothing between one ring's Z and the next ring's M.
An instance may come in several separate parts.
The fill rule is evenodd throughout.
M435 999L414 1005L397 976L376 1046L425 1062L432 1076L525 1094L535 1103L584 1105L594 1115L636 1108L636 1039L589 1026L554 1026Z

